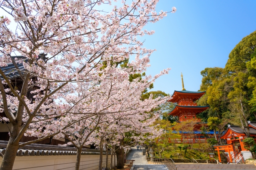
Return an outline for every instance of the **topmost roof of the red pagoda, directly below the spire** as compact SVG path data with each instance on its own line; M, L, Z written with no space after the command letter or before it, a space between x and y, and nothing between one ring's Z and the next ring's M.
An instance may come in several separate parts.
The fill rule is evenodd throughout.
M204 92L193 92L193 91L188 91L188 90L181 90L181 91L176 91L174 90L172 94L172 99L168 100L168 102L173 102L176 103L178 98L183 95L189 95L189 96L194 96L194 101L198 100L200 97L202 97L205 94Z

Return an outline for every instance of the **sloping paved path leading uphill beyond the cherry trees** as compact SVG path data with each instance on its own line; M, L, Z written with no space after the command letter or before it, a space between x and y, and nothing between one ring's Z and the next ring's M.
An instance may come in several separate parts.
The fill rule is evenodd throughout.
M142 149L137 150L136 147L131 147L130 152L126 156L126 160L135 160L134 164L146 164L146 157L142 155Z

